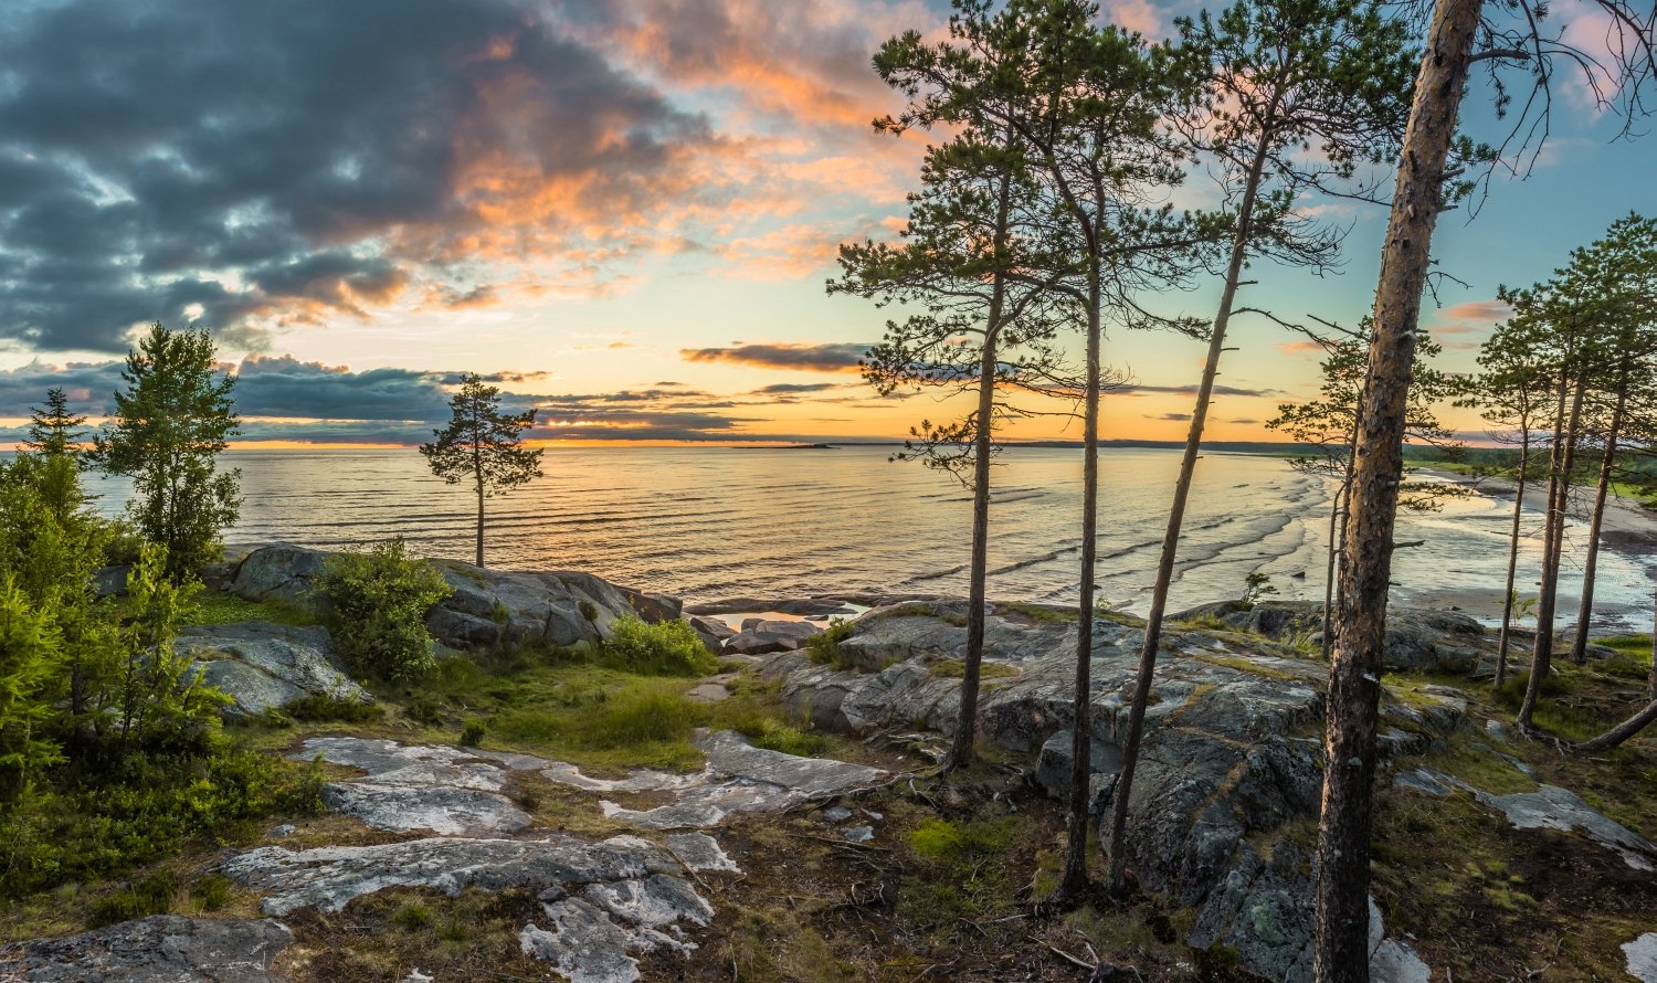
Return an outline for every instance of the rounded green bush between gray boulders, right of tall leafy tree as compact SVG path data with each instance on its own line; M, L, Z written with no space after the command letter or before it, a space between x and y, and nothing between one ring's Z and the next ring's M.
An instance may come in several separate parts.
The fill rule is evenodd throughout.
M442 575L408 555L403 537L366 554L330 557L321 592L331 602L330 630L358 671L393 681L431 673L426 612L449 597Z

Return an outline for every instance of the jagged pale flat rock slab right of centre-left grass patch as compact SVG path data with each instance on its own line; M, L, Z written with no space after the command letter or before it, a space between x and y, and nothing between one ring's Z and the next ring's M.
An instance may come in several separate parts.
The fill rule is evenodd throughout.
M625 779L595 779L563 763L542 774L590 792L673 796L673 802L655 809L625 809L610 801L600 804L605 816L646 829L717 826L731 812L774 812L877 782L886 774L878 768L754 748L734 731L703 734L694 744L708 754L708 766L696 774L635 771Z

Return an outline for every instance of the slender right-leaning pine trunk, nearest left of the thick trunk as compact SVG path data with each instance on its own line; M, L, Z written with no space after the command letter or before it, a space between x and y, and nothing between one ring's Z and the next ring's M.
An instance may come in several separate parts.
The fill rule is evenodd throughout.
M1276 101L1273 103L1276 106ZM1185 454L1180 458L1180 479L1173 484L1173 504L1168 507L1168 527L1162 535L1162 555L1157 560L1157 582L1152 587L1150 613L1145 617L1145 640L1140 645L1138 676L1133 683L1133 705L1128 708L1128 733L1122 744L1122 774L1110 806L1109 867L1105 890L1122 892L1127 874L1128 799L1133 794L1133 771L1138 766L1140 741L1145 736L1145 708L1150 705L1150 686L1157 673L1157 646L1162 643L1162 620L1168 610L1168 588L1173 585L1173 562L1180 554L1180 527L1185 524L1185 502L1191 496L1191 477L1196 474L1196 458L1203 448L1203 424L1208 421L1208 401L1215 393L1215 376L1220 375L1220 356L1226 350L1226 325L1231 305L1236 302L1238 280L1243 278L1243 260L1248 257L1254 196L1259 192L1259 176L1266 167L1263 138L1243 186L1243 204L1238 209L1238 227L1231 239L1231 262L1226 267L1226 285L1220 295L1220 312L1208 335L1208 360L1203 361L1203 381L1196 386L1196 408L1191 409L1191 429L1185 436Z

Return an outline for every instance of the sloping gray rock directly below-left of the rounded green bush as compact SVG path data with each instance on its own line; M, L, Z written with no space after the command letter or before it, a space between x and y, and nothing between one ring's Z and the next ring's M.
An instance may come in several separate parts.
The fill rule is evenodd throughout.
M204 683L230 696L227 713L280 709L303 696L373 700L341 671L330 655L328 630L316 625L240 622L184 628L174 648L197 660Z

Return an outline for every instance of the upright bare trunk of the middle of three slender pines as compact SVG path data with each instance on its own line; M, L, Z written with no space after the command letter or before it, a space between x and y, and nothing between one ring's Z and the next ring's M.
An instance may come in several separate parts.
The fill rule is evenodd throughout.
M1070 830L1064 852L1059 897L1074 900L1087 890L1087 827L1092 814L1094 764L1094 559L1099 550L1099 388L1100 282L1092 260L1087 283L1087 409L1082 423L1082 577L1075 620L1075 698L1070 724Z

